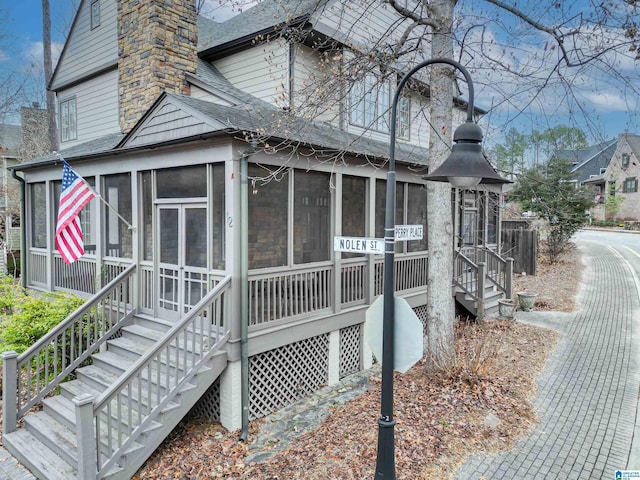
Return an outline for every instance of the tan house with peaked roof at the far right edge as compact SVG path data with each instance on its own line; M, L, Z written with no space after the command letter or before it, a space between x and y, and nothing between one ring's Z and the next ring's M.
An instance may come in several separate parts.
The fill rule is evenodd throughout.
M609 161L581 180L593 188L594 220L640 220L640 135L623 133L607 148Z

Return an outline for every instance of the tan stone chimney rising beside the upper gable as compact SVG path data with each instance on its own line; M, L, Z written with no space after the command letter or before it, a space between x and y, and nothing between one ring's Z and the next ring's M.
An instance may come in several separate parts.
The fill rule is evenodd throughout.
M120 128L127 133L163 92L189 94L197 61L196 0L118 0Z

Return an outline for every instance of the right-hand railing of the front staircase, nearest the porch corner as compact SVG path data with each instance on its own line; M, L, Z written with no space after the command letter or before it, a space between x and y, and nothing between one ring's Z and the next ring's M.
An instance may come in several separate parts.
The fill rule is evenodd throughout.
M76 410L78 431L93 438L92 452L85 452L91 454L79 455L81 477L90 478L97 471L102 478L115 466L224 344L229 336L225 315L230 314L230 287L227 277L95 402L80 399L79 404L93 409L92 416ZM89 439L82 443L89 444Z

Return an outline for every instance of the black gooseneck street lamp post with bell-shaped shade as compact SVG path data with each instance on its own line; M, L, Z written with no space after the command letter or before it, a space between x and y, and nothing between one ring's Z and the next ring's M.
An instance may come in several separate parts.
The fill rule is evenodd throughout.
M454 60L448 58L433 58L426 60L412 68L396 88L391 104L391 139L389 142L389 170L387 172L387 198L385 204L384 227L384 278L383 278L383 320L382 320L382 393L380 402L380 418L378 419L378 456L376 459L376 480L395 480L395 445L393 418L393 359L394 359L394 249L395 249L395 200L396 200L396 116L398 99L402 87L420 69L434 63L445 63L462 72L469 87L469 102L467 106L467 120L459 126L453 136L456 143L451 155L424 177L436 182L451 182L457 188L470 188L478 183L502 184L508 180L501 177L491 167L482 154L482 131L473 123L473 82L469 72Z

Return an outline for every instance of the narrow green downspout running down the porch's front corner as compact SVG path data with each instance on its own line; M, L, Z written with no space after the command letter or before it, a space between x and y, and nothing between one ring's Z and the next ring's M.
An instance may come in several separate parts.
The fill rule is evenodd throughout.
M249 433L249 189L248 158L240 157L240 401L242 402L242 431L240 441L246 442Z

